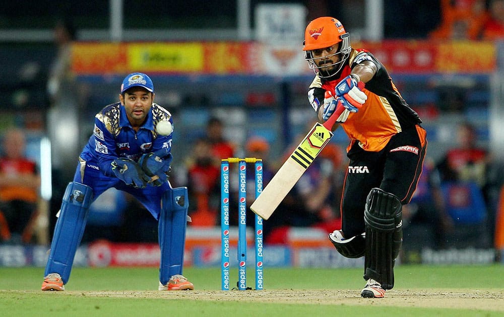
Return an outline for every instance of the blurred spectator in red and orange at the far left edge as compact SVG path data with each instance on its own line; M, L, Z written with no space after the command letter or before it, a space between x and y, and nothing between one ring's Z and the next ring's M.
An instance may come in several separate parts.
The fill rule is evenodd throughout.
M0 158L0 240L29 243L35 217L40 177L34 162L25 157L26 139L20 129L4 135Z

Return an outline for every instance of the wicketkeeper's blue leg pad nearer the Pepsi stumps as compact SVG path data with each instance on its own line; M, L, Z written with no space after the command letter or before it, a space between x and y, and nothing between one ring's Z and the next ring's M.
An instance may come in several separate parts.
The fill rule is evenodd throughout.
M187 187L164 192L159 215L159 281L163 285L166 285L170 276L182 274L188 208Z

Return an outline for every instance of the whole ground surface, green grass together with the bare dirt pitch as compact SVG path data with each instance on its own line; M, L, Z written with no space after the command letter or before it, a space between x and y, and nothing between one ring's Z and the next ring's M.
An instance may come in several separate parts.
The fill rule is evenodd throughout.
M383 299L360 298L362 269L265 268L264 291L220 291L219 268L186 268L194 292L159 292L157 268L74 268L64 292L42 292L43 268L0 268L0 314L5 316L502 316L504 266L408 266ZM237 269L231 269L236 283ZM248 286L254 272L248 271ZM341 296L342 291L344 296ZM435 294L425 296L427 290ZM478 294L469 295L466 293ZM282 295L288 292L287 295ZM317 294L324 294L318 297ZM168 294L170 293L170 294ZM314 298L303 296L315 294ZM293 296L295 300L275 299ZM338 300L332 300L332 295ZM401 295L402 294L402 295ZM455 294L455 296L454 296ZM483 294L483 295L479 295ZM484 294L489 294L485 295ZM445 298L446 296L446 298ZM418 298L417 298L418 297ZM425 297L425 298L422 298ZM418 303L416 300L425 300ZM481 302L432 307L429 301ZM497 308L495 308L497 307ZM499 308L500 307L500 308Z

